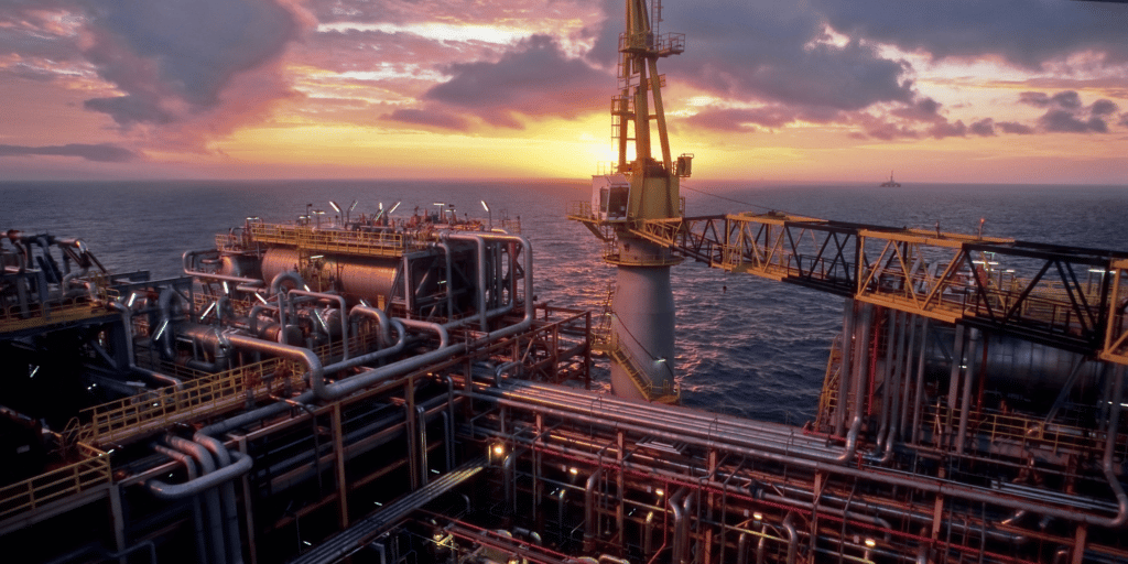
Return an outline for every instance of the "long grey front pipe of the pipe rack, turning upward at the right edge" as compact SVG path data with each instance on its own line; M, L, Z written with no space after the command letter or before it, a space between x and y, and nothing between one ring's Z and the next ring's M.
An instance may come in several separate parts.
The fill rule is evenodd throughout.
M988 488L959 484L943 478L920 478L906 473L883 470L873 467L855 468L853 466L828 464L817 458L808 458L807 456L800 456L801 453L797 451L772 452L768 450L761 450L760 448L757 447L724 444L719 441L719 438L716 437L715 433L712 437L698 438L695 437L694 433L687 433L686 429L684 428L676 428L672 425L663 426L662 423L654 421L634 420L631 423L626 422L611 423L610 417L608 416L609 412L600 412L600 415L598 416L587 415L584 413L575 413L554 407L530 405L526 402L508 399L503 397L494 397L481 394L466 394L466 395L483 400L491 400L500 405L505 405L518 409L526 409L534 413L543 413L554 417L564 417L571 421L589 423L596 426L615 425L616 429L619 430L640 433L643 435L652 435L656 439L661 439L664 441L687 442L702 448L711 448L711 449L723 448L733 453L747 456L754 459L765 459L777 464L800 466L809 470L823 472L828 474L838 474L851 478L864 478L867 481L879 482L887 485L910 487L924 492L942 494L949 497L969 500L977 503L990 503L1010 509L1028 509L1036 513L1041 513L1055 518L1061 518L1070 521L1095 525L1099 527L1116 528L1123 525L1123 522L1128 520L1128 495L1125 495L1122 488L1118 487L1114 482L1110 484L1110 487L1113 488L1117 499L1120 500L1119 510L1116 517L1107 518L1107 517L1095 515L1092 513L1061 509L1052 505L1031 503L1021 499L1014 499L1008 495L998 495L996 492L993 492ZM1111 437L1109 439L1109 442L1112 442L1114 444L1114 437ZM1111 460L1111 452L1112 452L1111 450L1105 451L1107 460ZM1111 477L1113 479L1116 478L1116 475L1112 474L1111 465L1107 466L1105 476Z

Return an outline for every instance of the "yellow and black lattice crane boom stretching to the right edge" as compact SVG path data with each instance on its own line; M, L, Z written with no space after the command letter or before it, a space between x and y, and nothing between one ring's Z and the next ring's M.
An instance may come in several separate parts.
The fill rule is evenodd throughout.
M629 230L714 268L1128 364L1128 253L776 212Z

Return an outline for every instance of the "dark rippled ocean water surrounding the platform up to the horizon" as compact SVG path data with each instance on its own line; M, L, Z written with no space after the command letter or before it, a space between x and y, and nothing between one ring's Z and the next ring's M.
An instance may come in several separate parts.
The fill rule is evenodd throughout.
M184 250L213 247L215 233L250 215L288 221L310 204L332 217L331 200L355 200L353 214L402 202L403 218L441 202L485 220L484 200L494 221L520 217L539 300L598 309L614 270L599 259L599 241L564 219L566 203L588 191L565 180L0 182L0 232L78 237L114 272L165 277L179 273ZM1128 250L1128 187L687 182L682 195L689 215L777 210L964 233L984 219L984 235ZM813 416L840 298L688 262L673 268L672 285L686 405L775 422Z

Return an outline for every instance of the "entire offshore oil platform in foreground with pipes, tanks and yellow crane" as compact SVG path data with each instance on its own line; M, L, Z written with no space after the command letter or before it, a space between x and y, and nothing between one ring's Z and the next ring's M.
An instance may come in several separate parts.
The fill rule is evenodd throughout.
M628 0L619 161L569 210L618 268L602 311L536 303L519 226L248 219L164 280L7 231L5 554L1128 562L1128 254L687 217L656 67L685 39L659 20ZM845 299L813 421L677 405L686 258Z

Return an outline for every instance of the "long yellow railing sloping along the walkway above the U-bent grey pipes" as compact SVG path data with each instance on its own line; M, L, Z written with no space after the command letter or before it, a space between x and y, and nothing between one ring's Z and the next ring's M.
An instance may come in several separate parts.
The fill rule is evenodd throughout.
M130 437L237 406L248 391L259 397L273 388L300 384L303 376L302 367L296 362L268 359L184 382L179 389L169 386L87 407L79 413L79 418L86 422L80 439L92 444L109 439L125 442Z

